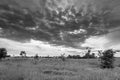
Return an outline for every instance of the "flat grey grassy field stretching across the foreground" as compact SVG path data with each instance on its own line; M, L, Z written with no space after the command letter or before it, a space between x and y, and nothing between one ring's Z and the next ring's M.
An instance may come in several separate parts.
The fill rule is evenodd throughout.
M119 63L100 69L97 59L14 58L0 62L0 80L120 80Z

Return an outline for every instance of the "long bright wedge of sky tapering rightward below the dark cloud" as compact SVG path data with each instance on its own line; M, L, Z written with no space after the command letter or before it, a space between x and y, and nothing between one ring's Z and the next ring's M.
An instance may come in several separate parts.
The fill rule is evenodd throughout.
M26 51L27 56L34 56L35 54L38 54L39 56L59 56L63 53L69 55L82 51L79 49L67 48L64 46L53 46L47 42L37 41L33 39L31 39L29 42L21 43L5 38L0 38L0 47L5 47L8 50L8 54L15 56L19 56L20 51Z

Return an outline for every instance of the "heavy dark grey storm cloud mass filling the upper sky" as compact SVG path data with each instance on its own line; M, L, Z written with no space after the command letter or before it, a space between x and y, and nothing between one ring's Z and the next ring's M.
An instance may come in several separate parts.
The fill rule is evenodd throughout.
M105 0L91 0L98 6L87 0L7 1L0 2L0 36L18 41L35 39L78 47L76 43L84 42L90 36L108 34L110 29L120 25L118 0L109 4ZM75 6L71 6L71 2ZM76 4L79 2L84 2L82 7Z

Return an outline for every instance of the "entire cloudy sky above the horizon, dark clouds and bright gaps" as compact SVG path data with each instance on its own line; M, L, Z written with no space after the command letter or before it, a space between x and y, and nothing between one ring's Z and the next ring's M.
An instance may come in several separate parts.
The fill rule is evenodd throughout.
M120 50L119 4L119 0L3 0L0 47L16 56L20 51L28 56L81 55L86 47Z

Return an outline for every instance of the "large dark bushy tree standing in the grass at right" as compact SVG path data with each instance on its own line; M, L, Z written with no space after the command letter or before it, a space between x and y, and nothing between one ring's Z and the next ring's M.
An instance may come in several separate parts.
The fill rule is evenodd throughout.
M112 49L105 50L104 52L99 51L101 68L114 68L114 53Z

